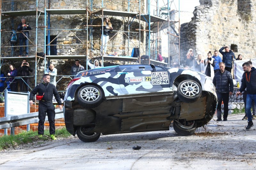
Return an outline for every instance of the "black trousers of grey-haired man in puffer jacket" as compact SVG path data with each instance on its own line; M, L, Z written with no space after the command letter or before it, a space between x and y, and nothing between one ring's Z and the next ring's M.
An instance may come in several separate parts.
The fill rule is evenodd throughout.
M229 93L217 93L218 97L218 105L217 105L217 117L218 119L221 118L221 103L223 100L224 104L224 115L223 119L228 117L228 100L229 100Z

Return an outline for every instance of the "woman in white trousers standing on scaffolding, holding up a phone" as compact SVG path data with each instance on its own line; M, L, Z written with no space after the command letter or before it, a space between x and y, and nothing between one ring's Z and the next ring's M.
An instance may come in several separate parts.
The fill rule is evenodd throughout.
M103 35L101 35L104 54L106 54L107 52L107 43L109 39L109 34L110 34L110 31L112 30L113 30L112 24L110 22L110 19L107 17L103 22ZM100 46L100 52L102 53L102 46Z

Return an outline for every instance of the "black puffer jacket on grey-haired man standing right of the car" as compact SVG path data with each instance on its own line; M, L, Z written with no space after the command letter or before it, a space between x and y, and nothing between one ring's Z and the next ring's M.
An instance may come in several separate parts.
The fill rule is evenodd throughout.
M223 73L221 73L220 70L217 71L214 75L212 83L216 87L216 92L233 93L234 84L231 73L229 71L224 70Z

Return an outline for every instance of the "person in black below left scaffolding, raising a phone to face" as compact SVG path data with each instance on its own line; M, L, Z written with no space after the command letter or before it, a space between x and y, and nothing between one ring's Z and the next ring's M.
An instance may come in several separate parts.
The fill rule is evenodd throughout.
M29 63L27 63L27 60L23 58L21 66L18 69L18 73L26 83L22 79L20 79L20 92L28 92L29 71L32 72L33 70L30 68Z

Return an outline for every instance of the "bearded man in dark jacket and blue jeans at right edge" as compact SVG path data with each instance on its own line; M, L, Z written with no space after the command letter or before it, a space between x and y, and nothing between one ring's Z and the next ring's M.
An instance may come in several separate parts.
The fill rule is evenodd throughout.
M252 101L256 102L256 69L254 67L251 68L249 63L244 63L243 65L243 83L239 89L238 92L236 92L237 95L241 95L244 89L247 90L247 96L246 96L246 106L245 106L245 112L248 117L248 125L245 129L251 129L253 126L252 123Z

